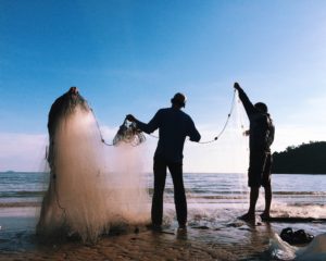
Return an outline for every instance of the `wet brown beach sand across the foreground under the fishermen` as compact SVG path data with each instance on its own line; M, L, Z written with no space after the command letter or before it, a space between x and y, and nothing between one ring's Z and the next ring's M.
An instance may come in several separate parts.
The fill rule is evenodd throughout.
M35 235L35 216L14 216L13 209L1 211L0 260L274 260L269 240L275 233L289 226L313 235L325 231L324 224L260 220L250 224L233 219L213 226L189 222L187 232L179 232L173 224L163 232L146 226L121 227L96 244L83 244L77 238L40 239Z

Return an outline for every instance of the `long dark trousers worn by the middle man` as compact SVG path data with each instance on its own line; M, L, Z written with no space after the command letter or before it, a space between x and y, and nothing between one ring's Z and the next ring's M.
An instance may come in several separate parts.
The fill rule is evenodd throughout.
M187 222L187 200L183 178L183 163L168 162L165 159L154 158L154 194L152 200L152 224L162 225L163 217L163 194L166 179L166 169L172 176L174 185L174 203L179 225Z

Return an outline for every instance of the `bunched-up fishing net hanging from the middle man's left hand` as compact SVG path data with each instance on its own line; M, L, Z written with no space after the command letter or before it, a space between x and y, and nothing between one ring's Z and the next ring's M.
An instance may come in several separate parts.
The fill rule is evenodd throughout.
M120 126L113 138L113 145L118 146L121 142L138 146L146 140L143 133L137 128L136 123L127 121Z

